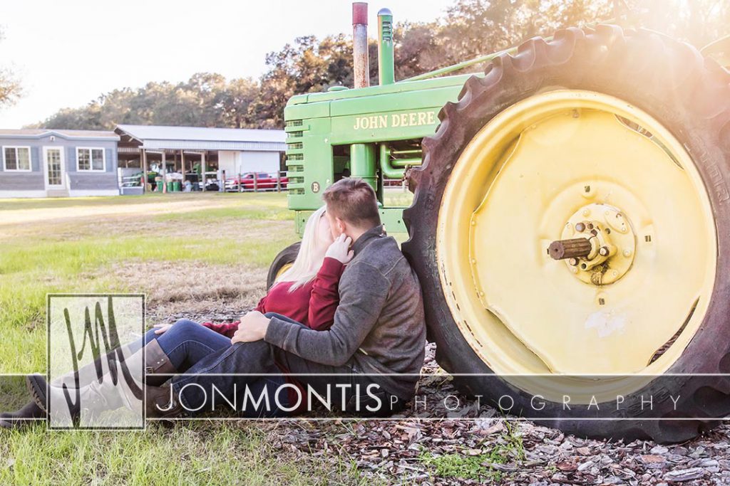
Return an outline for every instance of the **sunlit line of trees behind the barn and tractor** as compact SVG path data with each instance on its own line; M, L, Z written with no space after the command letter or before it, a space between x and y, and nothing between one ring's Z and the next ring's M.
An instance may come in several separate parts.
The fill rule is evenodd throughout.
M723 0L456 0L430 23L399 23L396 79L423 74L503 50L558 28L619 17L622 25L652 28L702 47L730 28ZM371 28L372 36L377 35ZM369 44L371 84L377 84L377 42ZM266 55L260 79L198 73L185 82L150 82L105 93L86 106L58 111L32 125L108 130L118 124L282 128L291 96L353 85L350 34L304 36ZM472 66L474 71L484 66ZM0 71L0 105L4 101ZM9 79L12 79L10 77ZM17 88L17 87L16 87ZM10 90L17 98L18 90Z

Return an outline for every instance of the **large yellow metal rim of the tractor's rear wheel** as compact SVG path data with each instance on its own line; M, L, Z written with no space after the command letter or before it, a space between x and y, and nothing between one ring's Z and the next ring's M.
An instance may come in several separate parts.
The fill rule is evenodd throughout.
M586 272L547 251L581 221L613 230L603 243L612 253ZM436 247L469 345L543 396L580 390L575 375L633 376L591 380L610 396L666 372L702 323L718 251L707 191L680 142L626 101L580 90L534 95L477 133L445 188ZM604 281L591 281L596 268Z

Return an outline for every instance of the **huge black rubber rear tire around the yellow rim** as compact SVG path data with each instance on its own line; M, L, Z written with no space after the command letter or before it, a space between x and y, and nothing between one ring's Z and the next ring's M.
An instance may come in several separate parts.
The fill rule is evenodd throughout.
M684 144L702 176L718 236L710 307L694 339L666 375L654 378L634 399L642 393L665 397L667 391L679 393L676 412L664 400L655 404L651 416L707 420L647 420L641 411L630 412L627 420L580 420L588 415L552 402L534 412L529 407L531 395L486 366L450 313L434 248L450 174L461 152L487 122L514 103L554 87L605 93L647 111ZM623 31L617 26L569 28L550 41L530 39L515 55L499 55L487 66L485 77L467 80L458 102L447 103L439 120L434 136L423 140L423 165L410 173L415 196L404 212L410 240L403 251L423 286L428 336L437 343L437 361L447 372L477 374L455 376L456 385L492 403L509 395L515 399L512 413L527 415L529 410L539 423L584 437L680 442L714 426L717 420L710 418L727 415L730 377L696 374L730 372L730 73L688 44L656 33ZM669 376L672 373L694 375Z

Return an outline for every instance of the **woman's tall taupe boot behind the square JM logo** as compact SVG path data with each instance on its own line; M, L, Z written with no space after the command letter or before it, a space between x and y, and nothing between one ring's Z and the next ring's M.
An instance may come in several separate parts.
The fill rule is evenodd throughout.
M150 341L145 348L142 348L137 353L134 353L119 363L126 364L127 369L130 371L128 377L131 380L128 380L123 374L122 369L118 367L117 383L112 382L110 373L101 377L100 380L93 380L89 385L79 389L78 396L80 399L76 403L70 404L69 410L61 410L58 413L63 414L64 412L68 412L68 418L77 420L80 417L81 407L93 415L98 415L104 410L115 410L120 407L141 412L142 391L145 385L142 383L142 376L139 375L139 370L142 369L145 356L145 375L147 375L145 380L150 385L160 385L168 379L168 377L161 375L170 375L176 372L158 342L156 340ZM64 388L48 386L45 379L39 375L32 375L28 377L27 381L28 388L36 404L42 409L45 409L46 412L48 410L47 404L50 401L53 401L55 404L66 402ZM69 395L72 395L72 393L69 392ZM59 417L63 416L59 415Z

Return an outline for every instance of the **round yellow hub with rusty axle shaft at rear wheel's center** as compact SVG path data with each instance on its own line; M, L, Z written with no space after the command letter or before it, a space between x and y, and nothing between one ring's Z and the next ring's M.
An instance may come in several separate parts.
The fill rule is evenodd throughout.
M548 254L591 285L618 281L634 262L636 235L623 212L610 205L593 203L575 211L561 238L550 243Z

